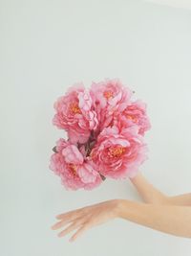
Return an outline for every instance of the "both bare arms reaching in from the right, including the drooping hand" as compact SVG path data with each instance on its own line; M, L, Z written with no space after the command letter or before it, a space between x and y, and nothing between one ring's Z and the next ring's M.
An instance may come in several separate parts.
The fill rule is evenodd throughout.
M111 199L88 205L56 216L52 229L63 229L58 237L74 231L74 242L88 229L121 218L171 234L191 238L191 193L168 197L138 173L130 178L143 202L129 199Z

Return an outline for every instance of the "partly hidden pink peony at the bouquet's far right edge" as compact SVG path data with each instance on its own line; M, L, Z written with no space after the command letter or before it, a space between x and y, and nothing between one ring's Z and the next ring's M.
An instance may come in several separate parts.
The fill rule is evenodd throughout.
M146 113L146 104L137 100L128 105L121 113L133 124L138 125L138 133L144 135L145 131L151 128L151 123Z

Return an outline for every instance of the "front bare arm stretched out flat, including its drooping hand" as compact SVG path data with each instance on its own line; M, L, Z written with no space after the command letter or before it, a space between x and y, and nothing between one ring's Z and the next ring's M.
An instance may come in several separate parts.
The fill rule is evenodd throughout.
M59 221L52 228L64 227L58 234L59 237L77 229L70 239L71 242L93 226L115 218L136 222L174 236L191 238L190 206L112 199L60 214L56 218Z

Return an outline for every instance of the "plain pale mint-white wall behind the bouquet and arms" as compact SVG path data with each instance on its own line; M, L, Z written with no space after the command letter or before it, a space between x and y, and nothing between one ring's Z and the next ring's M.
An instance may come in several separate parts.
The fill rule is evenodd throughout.
M49 170L53 102L75 81L119 78L148 105L149 159L140 171L168 195L191 191L191 11L144 1L0 1L3 256L190 256L189 239L124 220L74 244L55 215L109 198L139 200L129 180L68 192ZM70 234L71 236L72 234Z

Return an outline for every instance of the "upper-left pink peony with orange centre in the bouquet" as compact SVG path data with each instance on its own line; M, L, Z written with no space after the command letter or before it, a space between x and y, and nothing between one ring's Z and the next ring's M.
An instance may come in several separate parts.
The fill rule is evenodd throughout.
M91 130L97 127L96 111L92 105L92 98L83 84L74 84L53 104L56 110L53 125L67 130L71 142L85 143Z

